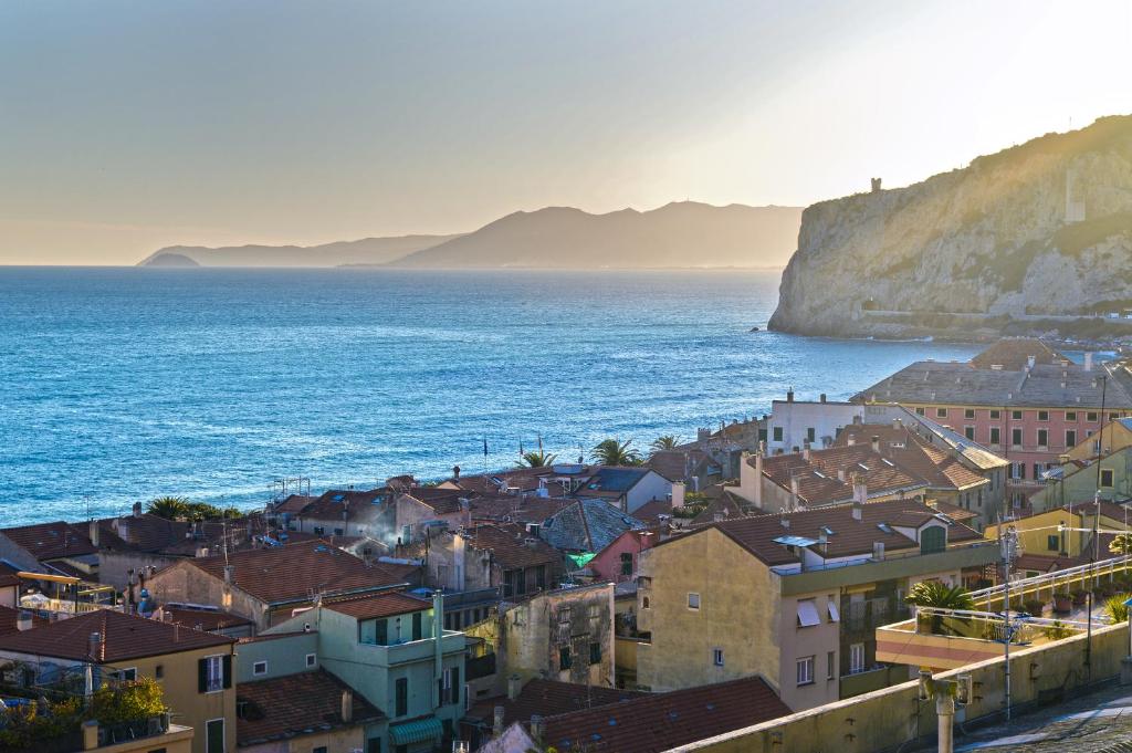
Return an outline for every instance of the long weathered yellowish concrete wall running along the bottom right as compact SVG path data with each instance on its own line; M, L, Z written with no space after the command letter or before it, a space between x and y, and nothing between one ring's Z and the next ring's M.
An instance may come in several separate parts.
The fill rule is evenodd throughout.
M1084 666L1087 636L1077 635L1056 643L1011 651L1012 705L1071 695L1089 684ZM1129 653L1127 625L1110 625L1092 635L1091 681L1120 674L1121 660ZM1004 705L1002 659L989 659L961 669L936 674L937 679L970 674L975 700L960 713L967 721L997 715ZM957 715L957 719L959 719ZM917 700L917 684L903 683L866 693L846 701L781 717L753 727L671 748L692 753L874 753L894 751L935 734L934 701Z

